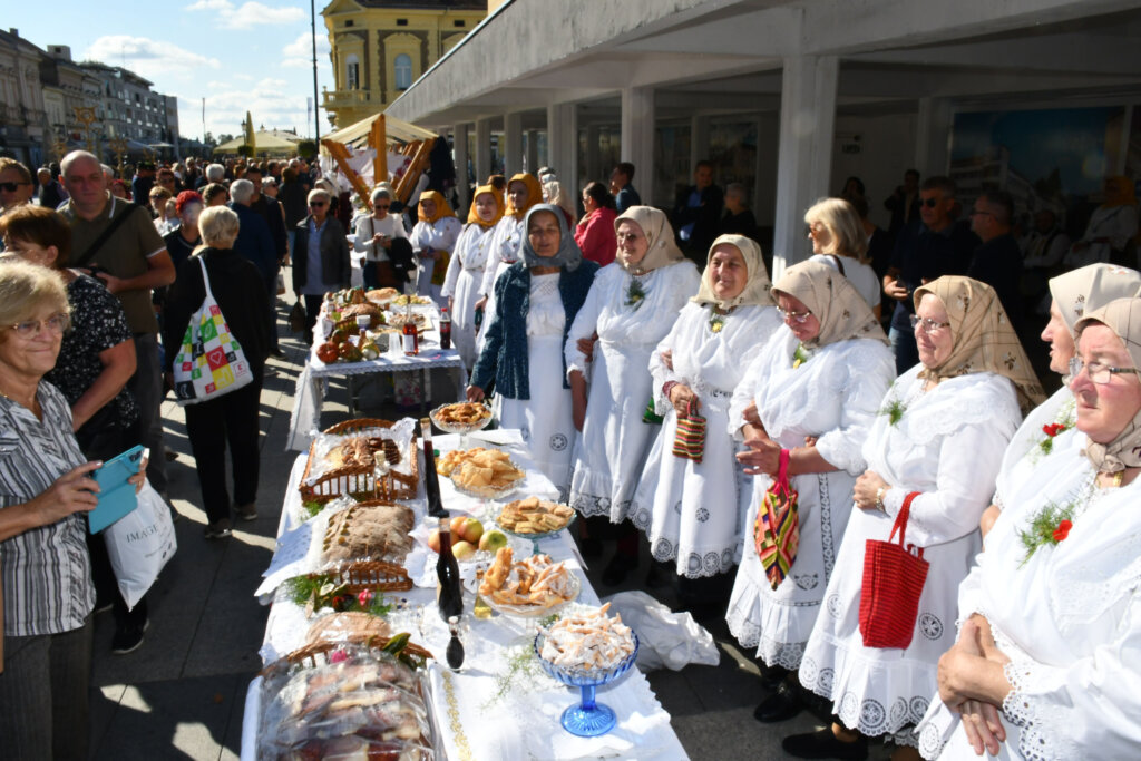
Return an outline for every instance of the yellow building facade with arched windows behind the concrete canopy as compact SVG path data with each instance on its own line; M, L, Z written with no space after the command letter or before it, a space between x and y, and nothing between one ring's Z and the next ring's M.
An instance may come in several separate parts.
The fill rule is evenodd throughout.
M333 0L329 31L334 89L322 106L335 128L385 110L487 15L487 0Z

